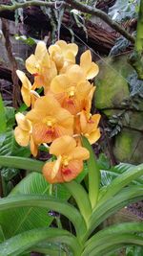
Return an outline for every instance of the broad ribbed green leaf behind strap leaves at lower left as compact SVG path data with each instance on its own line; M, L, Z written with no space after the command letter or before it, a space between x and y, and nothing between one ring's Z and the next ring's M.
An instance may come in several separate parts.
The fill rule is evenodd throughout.
M32 173L27 175L10 193L10 196L16 195L49 195L50 184L43 175ZM62 186L56 187L58 198L69 197L69 194ZM0 212L0 224L3 227L6 238L14 234L32 229L34 227L43 227L51 224L53 218L48 214L49 209L40 207L21 207Z

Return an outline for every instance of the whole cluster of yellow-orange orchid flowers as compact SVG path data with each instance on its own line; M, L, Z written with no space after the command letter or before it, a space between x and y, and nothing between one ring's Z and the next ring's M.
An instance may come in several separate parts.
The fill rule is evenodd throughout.
M30 144L33 156L40 145L56 156L43 168L50 183L69 182L82 172L83 161L90 153L82 147L81 135L91 144L100 137L100 115L91 114L95 86L89 81L98 74L98 66L92 62L89 50L76 64L77 52L74 43L59 40L47 49L40 41L34 55L26 60L33 84L24 72L17 70L23 101L31 110L26 115L16 114L15 139L23 147ZM44 88L44 96L36 90L40 87Z

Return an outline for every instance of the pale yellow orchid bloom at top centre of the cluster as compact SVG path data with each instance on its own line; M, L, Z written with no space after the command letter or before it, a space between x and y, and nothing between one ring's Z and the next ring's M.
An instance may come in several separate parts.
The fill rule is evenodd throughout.
M75 43L68 44L64 40L58 40L49 47L51 59L55 62L58 71L74 64L77 52L78 46Z

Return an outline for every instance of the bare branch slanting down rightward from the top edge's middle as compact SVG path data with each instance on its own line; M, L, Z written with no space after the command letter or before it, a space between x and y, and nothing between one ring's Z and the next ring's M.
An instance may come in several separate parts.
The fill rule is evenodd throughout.
M78 11L89 13L95 15L102 20L104 20L108 25L112 27L113 30L120 33L124 37L126 37L129 41L135 42L133 35L129 34L126 30L124 30L117 22L113 21L112 18L96 8L92 8L91 6L83 5L76 0L67 0L66 1L72 8L75 8Z

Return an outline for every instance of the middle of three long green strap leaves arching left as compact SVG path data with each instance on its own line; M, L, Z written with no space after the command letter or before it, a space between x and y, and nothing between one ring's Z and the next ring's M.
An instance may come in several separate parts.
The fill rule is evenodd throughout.
M64 202L62 199L45 197L45 196L16 196L2 198L0 200L0 211L10 210L20 207L42 207L59 212L72 221L76 230L77 237L82 239L87 231L86 223L78 210L71 204Z

